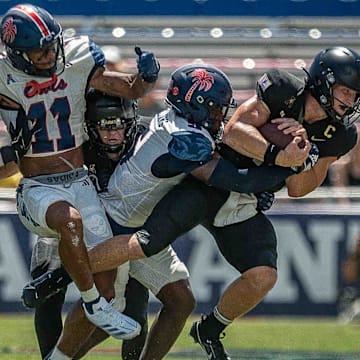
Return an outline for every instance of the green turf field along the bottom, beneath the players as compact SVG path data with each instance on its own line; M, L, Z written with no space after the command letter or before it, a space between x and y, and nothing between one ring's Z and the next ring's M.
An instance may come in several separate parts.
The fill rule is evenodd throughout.
M190 325L166 359L205 359L187 335ZM248 317L229 327L223 343L233 360L360 360L360 323ZM109 339L86 358L119 359L120 344ZM39 358L31 315L0 315L0 360Z

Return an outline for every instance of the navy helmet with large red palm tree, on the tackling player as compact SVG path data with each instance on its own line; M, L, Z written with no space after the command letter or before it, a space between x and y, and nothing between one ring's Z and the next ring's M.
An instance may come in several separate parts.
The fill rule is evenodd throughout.
M209 64L188 64L176 69L171 74L165 101L188 122L210 132L225 120L229 108L236 107L230 80Z

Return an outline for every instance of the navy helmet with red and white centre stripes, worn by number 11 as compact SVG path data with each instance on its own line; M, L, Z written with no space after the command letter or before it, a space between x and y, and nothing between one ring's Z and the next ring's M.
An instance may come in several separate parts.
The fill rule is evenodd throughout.
M12 65L26 74L48 77L64 70L62 28L46 10L38 6L23 4L9 9L1 21L1 41ZM52 44L56 46L57 63L48 70L36 69L27 52Z

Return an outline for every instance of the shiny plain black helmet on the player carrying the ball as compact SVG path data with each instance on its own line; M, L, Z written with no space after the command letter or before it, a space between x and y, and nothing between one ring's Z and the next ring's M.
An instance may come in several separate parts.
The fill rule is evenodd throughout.
M318 53L310 69L306 71L306 86L311 95L333 121L349 122L350 117L359 113L360 95L360 55L345 47L332 47ZM353 106L344 104L344 115L333 109L333 87L340 84L357 92L358 96Z

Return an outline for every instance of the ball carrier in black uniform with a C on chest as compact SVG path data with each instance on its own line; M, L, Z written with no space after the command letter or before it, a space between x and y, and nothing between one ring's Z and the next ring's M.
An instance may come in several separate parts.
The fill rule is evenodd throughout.
M223 143L248 156L236 155L239 167L249 166L249 158L288 166L284 151L269 144L256 128L275 122L291 132L302 124L319 149L319 160L285 182L289 196L304 196L321 185L330 164L355 146L357 133L351 122L358 114L359 95L360 55L343 47L322 50L304 80L282 70L267 71L257 82L256 95L227 124ZM230 154L226 145L222 152ZM258 213L235 226L237 233L234 225L214 229L215 238L242 277L225 290L211 314L194 323L192 336L203 347L206 339L219 339L228 324L255 307L276 283L276 236L269 220ZM221 236L225 234L229 236Z

